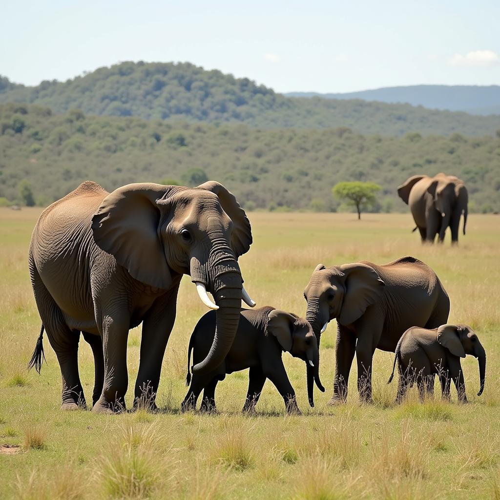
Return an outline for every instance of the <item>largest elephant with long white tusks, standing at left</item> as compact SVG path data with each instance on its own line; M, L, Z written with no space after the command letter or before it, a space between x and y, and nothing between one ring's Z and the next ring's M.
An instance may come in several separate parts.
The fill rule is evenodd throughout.
M85 404L77 364L80 332L95 360L93 411L125 407L128 330L142 322L134 401L145 398L155 408L182 274L190 274L201 300L217 309L212 346L193 371L217 367L235 336L241 299L255 305L237 263L251 242L245 212L214 181L192 189L136 183L111 193L86 181L46 208L31 236L29 270L60 365L61 407ZM41 335L35 362L43 353Z

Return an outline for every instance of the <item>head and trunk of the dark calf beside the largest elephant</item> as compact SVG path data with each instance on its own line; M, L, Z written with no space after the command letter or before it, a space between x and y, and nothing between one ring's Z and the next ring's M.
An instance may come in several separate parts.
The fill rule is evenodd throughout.
M319 345L308 321L295 314L273 309L267 315L266 333L274 335L283 350L305 361L307 375L307 397L314 406L313 380L324 392L319 379Z

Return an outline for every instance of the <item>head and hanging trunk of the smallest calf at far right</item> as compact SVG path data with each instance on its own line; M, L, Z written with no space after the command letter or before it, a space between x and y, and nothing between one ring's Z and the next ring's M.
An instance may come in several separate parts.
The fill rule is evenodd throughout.
M477 358L480 384L477 395L480 396L484 389L486 352L472 328L466 324L443 324L437 328L437 341L455 356L471 354Z

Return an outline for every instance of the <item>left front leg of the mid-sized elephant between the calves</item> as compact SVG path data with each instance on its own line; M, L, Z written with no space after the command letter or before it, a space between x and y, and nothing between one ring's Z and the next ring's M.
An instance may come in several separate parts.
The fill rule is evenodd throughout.
M329 405L344 403L347 399L349 371L354 359L356 337L347 329L338 326L335 343L335 376L333 378L333 396Z

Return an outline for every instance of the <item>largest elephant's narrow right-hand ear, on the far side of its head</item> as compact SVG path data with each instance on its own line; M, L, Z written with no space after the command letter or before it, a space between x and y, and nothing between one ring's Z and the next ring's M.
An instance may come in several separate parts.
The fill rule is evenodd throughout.
M250 221L245 211L239 206L234 194L228 191L220 182L209 180L195 189L206 189L217 195L220 206L232 220L231 246L236 258L250 249L252 243Z

